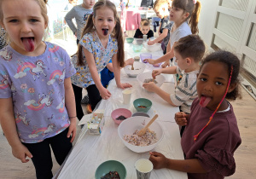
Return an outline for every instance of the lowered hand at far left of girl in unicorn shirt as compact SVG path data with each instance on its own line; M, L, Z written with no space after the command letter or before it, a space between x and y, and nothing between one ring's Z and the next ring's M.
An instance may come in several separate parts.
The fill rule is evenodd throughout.
M29 159L26 159L26 157L32 158L32 153L29 152L26 146L24 146L22 143L16 147L12 147L12 152L15 158L20 159L22 163L26 163L29 161Z

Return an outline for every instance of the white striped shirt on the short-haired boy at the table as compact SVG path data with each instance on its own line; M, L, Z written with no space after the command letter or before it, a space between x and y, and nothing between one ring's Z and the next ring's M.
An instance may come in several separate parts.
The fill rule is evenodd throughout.
M172 103L180 106L181 110L185 113L190 113L192 102L197 97L196 91L196 78L199 71L184 72L178 67L176 68L177 74L182 75L183 78L177 84L174 94L170 95Z

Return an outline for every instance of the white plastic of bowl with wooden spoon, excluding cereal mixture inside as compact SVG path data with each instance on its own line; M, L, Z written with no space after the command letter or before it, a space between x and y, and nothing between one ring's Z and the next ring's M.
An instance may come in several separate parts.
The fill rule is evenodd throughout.
M136 116L136 117L127 118L123 123L119 124L119 129L118 129L119 137L121 141L123 141L125 146L128 147L131 151L135 153L146 153L152 150L154 147L156 147L160 143L160 141L163 139L164 137L163 129L157 121L154 121L154 123L152 123L148 129L153 130L156 133L156 138L157 138L156 143L149 146L141 147L141 146L134 146L124 140L125 135L131 135L135 132L135 130L143 129L143 127L145 127L145 125L148 124L150 119L151 118L148 118L148 117Z

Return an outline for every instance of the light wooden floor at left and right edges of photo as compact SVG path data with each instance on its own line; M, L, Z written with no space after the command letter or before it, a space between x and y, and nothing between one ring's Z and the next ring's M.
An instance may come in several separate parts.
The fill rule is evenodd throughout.
M253 179L256 176L256 101L245 90L241 91L243 98L231 103L236 113L242 142L235 153L236 173L228 178ZM54 161L53 172L58 168L59 165ZM0 128L0 179L15 178L35 178L35 171L31 161L22 164L20 160L15 159Z

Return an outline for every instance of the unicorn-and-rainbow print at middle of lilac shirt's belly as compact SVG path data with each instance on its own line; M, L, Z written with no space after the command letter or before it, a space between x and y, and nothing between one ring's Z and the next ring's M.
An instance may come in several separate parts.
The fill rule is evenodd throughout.
M54 94L53 90L50 90L49 93L47 95L45 95L43 93L43 95L41 96L39 94L39 100L35 101L35 100L30 100L30 101L26 101L24 103L25 106L27 106L27 108L33 110L33 111L39 111L41 109L43 109L45 106L46 107L50 107L53 103L53 98L50 96Z

